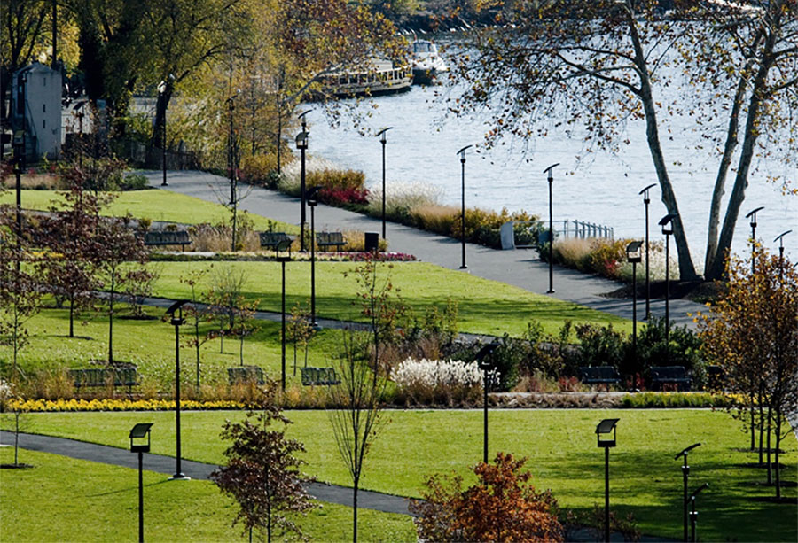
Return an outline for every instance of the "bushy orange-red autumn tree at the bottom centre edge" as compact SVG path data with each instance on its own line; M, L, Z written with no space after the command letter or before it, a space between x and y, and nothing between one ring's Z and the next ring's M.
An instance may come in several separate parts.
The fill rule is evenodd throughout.
M473 467L477 483L463 488L463 477L427 477L422 501L411 502L425 541L562 541L557 502L537 492L523 471L526 458L497 453L493 464Z

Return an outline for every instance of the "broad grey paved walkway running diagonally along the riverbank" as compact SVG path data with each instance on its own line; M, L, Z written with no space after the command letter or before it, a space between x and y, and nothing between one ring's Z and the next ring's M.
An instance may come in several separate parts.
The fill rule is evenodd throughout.
M161 189L161 173L144 172L150 184ZM229 193L229 182L219 175L197 171L169 171L168 187L194 198L218 203L218 195ZM226 191L226 192L225 192ZM239 204L240 209L270 219L290 224L299 224L300 200L274 190L254 187ZM340 229L381 232L382 222L360 213L338 207L319 205L316 211L317 230ZM461 264L460 243L450 237L414 229L393 222L387 223L388 247L393 252L407 252L420 260L443 268L459 269ZM466 244L467 273L486 279L518 286L527 291L545 294L549 288L548 264L537 258L535 251L499 251L476 244ZM631 299L608 299L601 296L622 286L620 283L595 275L585 275L572 269L554 268L553 296L599 311L632 318ZM671 320L678 324L693 326L687 313L695 313L701 305L685 299L669 302ZM665 314L664 300L652 300L652 313ZM638 299L638 318L645 311L645 299Z

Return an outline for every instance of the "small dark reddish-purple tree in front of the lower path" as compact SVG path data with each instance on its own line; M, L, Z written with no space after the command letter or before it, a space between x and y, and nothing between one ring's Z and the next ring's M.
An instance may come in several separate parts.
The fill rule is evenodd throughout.
M211 474L219 489L239 502L233 525L262 531L269 542L289 532L301 536L290 516L316 507L304 487L310 479L300 472L305 462L296 456L305 447L286 438L291 421L276 401L277 387L274 381L266 384L261 411L248 413L241 423L224 424L222 438L232 441L224 451L227 465Z

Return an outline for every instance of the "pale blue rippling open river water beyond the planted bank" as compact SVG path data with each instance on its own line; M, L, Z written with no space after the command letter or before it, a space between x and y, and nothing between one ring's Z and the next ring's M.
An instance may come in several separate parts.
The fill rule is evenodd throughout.
M436 93L437 90L437 93ZM363 170L366 183L378 187L382 181L382 149L373 134L380 128L393 127L387 133L387 183L423 182L441 192L442 204L459 206L460 161L457 151L468 144L481 144L487 125L480 119L446 117L446 105L436 95L446 89L414 86L410 91L372 99L370 116L362 125L368 136L346 121L333 127L325 113L316 108L308 115L309 153L337 163L340 167ZM681 136L689 132L689 120L676 120L678 134L673 139L663 136L669 174L677 195L679 212L697 268L703 268L707 243L708 210L715 182L717 159L708 151L695 151ZM685 126L680 127L681 123ZM614 236L645 235L645 206L638 192L656 182L651 155L645 140L642 121L628 127L630 144L617 155L592 152L587 159L583 144L563 134L549 132L524 152L522 143L505 142L492 150L483 146L477 152L466 151L465 205L511 211L525 209L540 217L548 217L548 183L545 167L559 162L554 170L554 221L578 220L614 228ZM795 167L776 161L757 161L758 171L749 177L746 199L741 208L732 245L733 252L747 252L750 226L744 215L758 206L757 238L772 252L778 252L773 239L787 229L785 252L795 261L798 257L798 197L783 196L779 186L766 182L766 174L798 180ZM731 174L730 174L731 175ZM732 178L733 180L733 178ZM728 183L727 194L731 192ZM660 200L659 185L651 191L650 231L652 239L660 239L657 221L666 214ZM723 216L722 216L723 219ZM556 225L555 225L556 227Z

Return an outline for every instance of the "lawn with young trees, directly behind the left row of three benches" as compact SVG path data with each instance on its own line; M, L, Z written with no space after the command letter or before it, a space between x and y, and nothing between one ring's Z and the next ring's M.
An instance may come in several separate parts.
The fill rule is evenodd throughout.
M145 313L153 320L129 320L123 318L129 311L118 306L120 313L113 321L113 359L133 362L145 379L153 379L160 387L174 381L175 372L175 328L160 317L163 310L146 307ZM280 323L258 321L259 330L244 341L244 364L263 368L272 378L280 376ZM75 319L74 334L66 337L69 330L69 314L66 309L44 309L27 322L29 345L20 351L20 366L29 369L87 368L91 361L106 361L108 357L108 318L102 313L87 313ZM215 330L212 322L200 325L200 335ZM193 326L181 328L184 347L181 349L183 379L187 384L196 382L196 354L188 341L193 337ZM325 366L339 352L340 330L320 330L309 345L309 365ZM289 337L290 339L290 337ZM208 378L227 381L226 368L240 364L238 337L214 339L200 346L201 382ZM304 365L304 353L298 353L298 366ZM0 350L0 361L11 363L8 347ZM300 375L293 376L293 344L286 345L288 384L300 384Z

